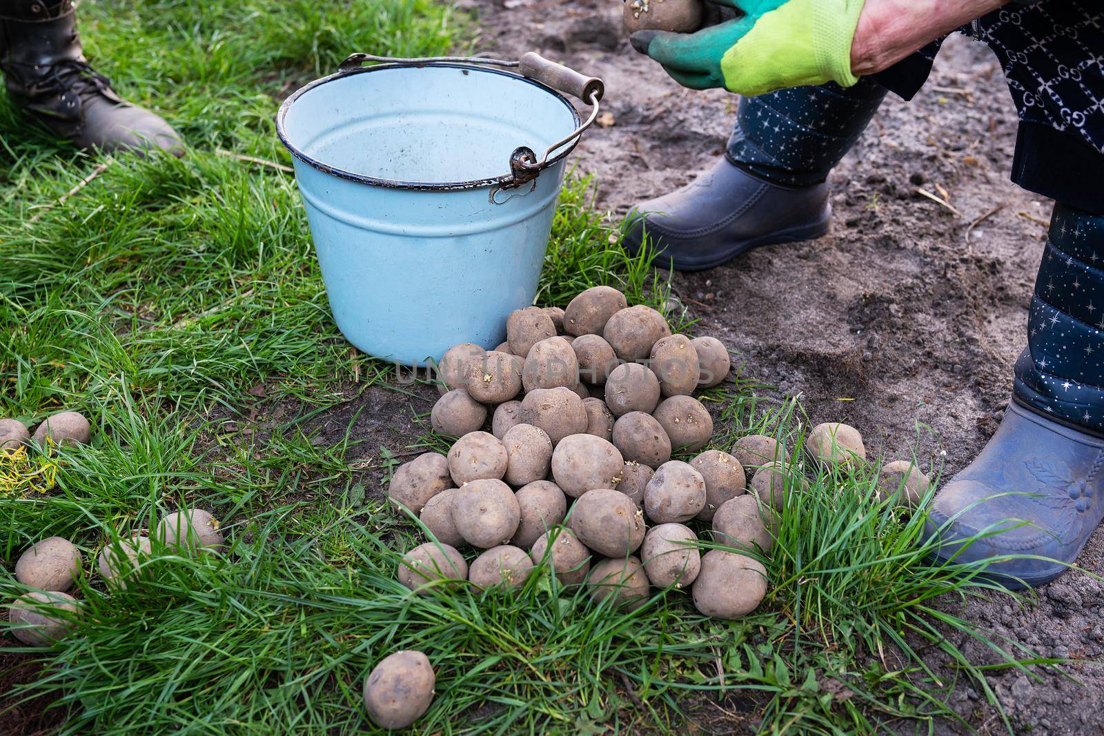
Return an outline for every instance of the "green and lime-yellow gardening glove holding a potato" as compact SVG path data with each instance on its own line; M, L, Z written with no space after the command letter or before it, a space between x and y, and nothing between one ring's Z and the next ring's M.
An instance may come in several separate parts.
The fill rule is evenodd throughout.
M697 33L637 31L633 46L692 89L751 96L859 81L851 73L851 41L866 0L712 1L744 14Z

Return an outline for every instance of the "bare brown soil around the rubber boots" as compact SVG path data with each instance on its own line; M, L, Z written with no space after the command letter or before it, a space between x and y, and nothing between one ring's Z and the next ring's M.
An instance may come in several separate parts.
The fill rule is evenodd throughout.
M606 82L614 125L590 131L574 157L597 174L599 206L622 214L687 183L723 151L736 98L683 89L634 52L620 2L467 4L479 12L479 52L538 51ZM676 275L675 290L745 362L745 375L777 395L802 394L814 423L847 420L887 458L915 448L949 478L985 445L1008 402L1050 215L1049 201L1008 179L1016 122L996 57L954 36L924 90L912 103L890 95L835 172L827 237ZM1097 531L1079 564L1104 572L1102 550ZM1070 574L1029 610L1007 597L966 610L990 636L1042 657L1100 659L1102 602L1100 584ZM958 643L991 661L980 646ZM1104 733L1104 673L1071 671L1076 681L997 678L1017 730ZM1002 730L981 702L963 687L953 705L975 727Z

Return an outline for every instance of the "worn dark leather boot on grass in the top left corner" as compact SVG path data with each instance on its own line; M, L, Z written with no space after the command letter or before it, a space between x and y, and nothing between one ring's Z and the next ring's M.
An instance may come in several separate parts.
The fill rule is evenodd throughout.
M0 0L0 70L15 104L78 148L183 153L168 122L88 65L73 0Z

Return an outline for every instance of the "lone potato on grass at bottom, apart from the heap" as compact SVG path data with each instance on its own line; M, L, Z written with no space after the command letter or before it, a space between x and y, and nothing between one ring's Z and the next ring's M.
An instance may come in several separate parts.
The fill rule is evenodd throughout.
M422 652L389 654L364 678L364 707L381 728L406 728L429 710L436 682Z

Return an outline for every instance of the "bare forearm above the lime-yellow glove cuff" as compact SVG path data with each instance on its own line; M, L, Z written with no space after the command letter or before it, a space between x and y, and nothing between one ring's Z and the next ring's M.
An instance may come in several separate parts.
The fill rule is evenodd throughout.
M887 70L1008 0L867 0L851 42L851 71Z

